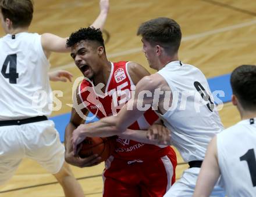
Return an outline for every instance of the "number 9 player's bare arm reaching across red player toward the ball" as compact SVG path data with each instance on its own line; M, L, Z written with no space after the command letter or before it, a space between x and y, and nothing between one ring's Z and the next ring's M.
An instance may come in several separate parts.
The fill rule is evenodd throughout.
M153 96L143 98L139 93L141 91L146 91L152 94L157 85L158 82L154 81L152 75L145 76L136 85L134 98L131 98L128 103L126 103L122 110L118 112L118 115L108 116L97 122L77 127L72 135L74 154L77 154L77 145L79 145L86 137L108 137L125 132L127 127L137 121L137 119L145 112L140 108L137 108L137 103L140 102L140 105L152 105ZM128 110L127 107L129 107Z

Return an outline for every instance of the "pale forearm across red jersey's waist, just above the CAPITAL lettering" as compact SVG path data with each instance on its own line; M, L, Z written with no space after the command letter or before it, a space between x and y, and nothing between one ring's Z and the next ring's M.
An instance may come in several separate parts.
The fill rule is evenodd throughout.
M125 132L119 134L118 136L125 138L125 139L129 139L129 140L139 141L140 143L145 143L145 144L166 145L163 143L159 143L158 140L148 139L147 133L148 133L148 130L127 129Z

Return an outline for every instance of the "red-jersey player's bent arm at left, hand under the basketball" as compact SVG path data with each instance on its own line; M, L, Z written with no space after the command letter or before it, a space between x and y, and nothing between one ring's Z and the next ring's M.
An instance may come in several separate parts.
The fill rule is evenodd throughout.
M77 88L78 93L78 88ZM77 113L76 107L82 102L79 95L76 93L77 105L74 104L71 112L71 117L68 125L65 129L65 160L67 163L78 167L88 167L98 164L98 161L101 159L98 155L91 155L88 158L79 158L74 157L73 146L71 143L72 133L80 124L84 124L86 116L88 115L88 110L83 108L81 113ZM75 102L74 102L75 103ZM84 115L84 116L82 116Z

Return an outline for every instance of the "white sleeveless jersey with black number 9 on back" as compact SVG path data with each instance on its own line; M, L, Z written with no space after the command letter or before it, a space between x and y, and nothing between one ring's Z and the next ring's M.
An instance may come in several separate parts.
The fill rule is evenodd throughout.
M223 130L207 79L198 68L180 61L170 62L158 74L172 90L171 107L168 101L165 107L168 111L159 114L171 130L172 144L185 162L203 160L209 141ZM205 96L207 101L202 99L201 93L209 95Z

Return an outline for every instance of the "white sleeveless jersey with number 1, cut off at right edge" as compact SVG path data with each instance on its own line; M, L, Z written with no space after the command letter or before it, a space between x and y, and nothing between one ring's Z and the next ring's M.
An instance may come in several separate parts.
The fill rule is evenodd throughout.
M218 162L227 196L256 196L256 118L217 135Z

